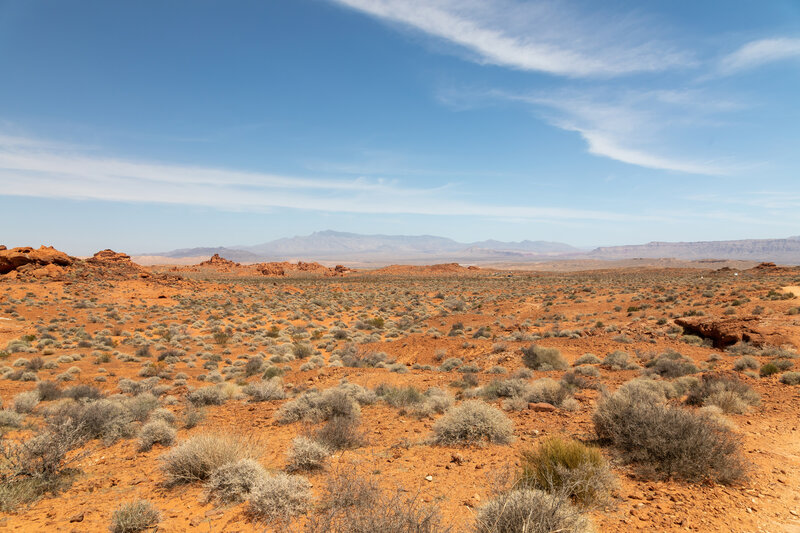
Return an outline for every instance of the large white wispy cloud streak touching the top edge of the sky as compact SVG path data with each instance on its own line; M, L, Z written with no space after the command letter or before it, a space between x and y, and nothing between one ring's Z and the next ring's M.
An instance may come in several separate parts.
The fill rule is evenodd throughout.
M569 77L610 77L694 64L652 38L640 17L580 13L563 2L333 0L467 50L480 63Z

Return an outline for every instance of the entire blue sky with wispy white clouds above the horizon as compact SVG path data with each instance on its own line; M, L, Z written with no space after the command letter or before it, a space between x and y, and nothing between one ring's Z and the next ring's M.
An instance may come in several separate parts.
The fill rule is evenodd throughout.
M800 234L800 4L0 0L0 243Z

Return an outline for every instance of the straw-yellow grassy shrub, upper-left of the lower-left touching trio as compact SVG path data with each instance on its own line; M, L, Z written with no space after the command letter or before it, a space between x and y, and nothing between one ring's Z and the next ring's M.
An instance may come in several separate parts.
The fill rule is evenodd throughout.
M167 483L204 481L220 466L240 459L253 459L255 449L248 439L230 435L201 434L164 453L161 470Z

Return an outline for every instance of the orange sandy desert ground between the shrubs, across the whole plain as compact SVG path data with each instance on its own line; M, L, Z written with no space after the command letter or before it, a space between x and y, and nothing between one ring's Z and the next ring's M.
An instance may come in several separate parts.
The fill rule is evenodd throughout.
M273 324L280 329L288 323L302 326L313 322L309 332L332 328L336 320L358 332L359 319L380 316L387 322L406 315L415 331L399 330L399 336L386 337L388 328L367 331L371 342L362 349L384 351L409 367L414 363L433 365L432 370L410 369L407 373L380 368L328 367L299 371L304 361L291 361L292 370L283 376L287 390L301 391L310 387L324 389L335 386L342 378L375 387L381 383L445 388L458 398L459 389L450 386L459 380L456 371L441 372L437 350L446 350L446 357L459 357L474 363L482 371L481 384L503 375L486 370L502 365L510 375L522 367L519 349L530 341L501 340L515 332L544 335L547 332L571 330L573 337L546 337L537 341L557 347L572 363L584 353L599 357L614 350L629 354L660 352L673 348L690 357L701 369L713 367L731 370L736 356L707 345L684 342L676 333L671 319L687 312L702 311L706 316L723 317L725 309L735 316L748 316L756 307L765 327L779 330L789 343L800 341L800 315L788 311L800 300L769 299L770 291L784 287L795 294L800 285L800 271L743 271L737 278L732 272L703 270L612 270L586 273L497 273L475 272L460 277L370 277L307 279L231 279L188 280L179 278L103 279L102 276L66 275L52 281L4 279L0 277L0 350L9 341L23 335L35 335L37 342L42 326L57 328L83 327L96 335L107 329L115 346L103 353L132 355L135 346L129 342L137 329L154 343L173 347L180 343L187 354L211 351L222 354L225 361L247 358L267 352L267 346L248 349L243 343L255 332L266 331ZM708 291L708 292L707 292ZM439 294L440 293L440 294ZM707 293L706 296L703 293ZM664 298L672 295L674 298ZM444 299L441 298L444 296ZM464 309L448 311L445 303L456 298ZM661 301L659 301L661 300ZM78 302L91 302L88 308L76 308ZM734 301L739 305L730 307ZM253 307L255 305L255 307ZM279 309L280 305L285 309ZM629 311L629 307L643 308ZM82 306L79 306L82 307ZM617 308L617 310L615 310ZM328 310L330 309L330 313ZM116 310L116 313L112 312ZM226 346L215 344L211 331L195 328L197 320L208 325L216 316L230 325L239 338ZM251 318L260 323L248 323ZM665 318L659 324L660 318ZM58 319L58 322L51 322ZM596 323L601 321L602 326ZM452 324L461 322L464 336L448 337ZM150 324L160 324L147 329ZM160 332L164 327L185 326L190 339L171 341ZM480 326L490 326L493 339L475 339L472 333ZM607 331L615 326L616 331ZM435 327L441 336L427 333ZM471 330L469 329L471 328ZM51 331L62 347L44 347L37 353L13 353L0 364L12 365L18 357L40 355L45 361L63 354L84 354L81 360L60 363L58 368L39 370L38 379L54 380L67 368L77 366L77 381L93 384L108 394L119 392L120 378L139 380L142 362L122 362L115 355L110 361L96 363L95 347L77 347L75 339ZM620 337L623 336L623 337ZM197 340L210 346L201 347ZM310 340L317 346L328 339ZM279 341L280 342L280 341ZM331 341L333 342L333 341ZM341 347L346 341L335 341ZM505 348L493 350L495 343ZM63 346L63 344L68 344ZM223 350L230 353L223 354ZM52 353L51 353L52 352ZM330 351L321 350L327 361ZM154 346L155 360L158 348ZM709 356L720 359L709 363ZM267 353L267 358L269 354ZM764 358L760 362L766 362ZM145 360L146 361L146 360ZM800 360L798 360L800 361ZM183 395L194 387L204 386L197 376L208 370L198 359L193 368L182 360L168 365L168 374L189 375L186 386L172 386L165 393L179 401L168 408L180 415ZM228 363L230 364L230 363ZM285 366L280 364L279 366ZM796 361L795 370L800 362ZM100 369L104 373L100 373ZM639 375L639 371L600 369L599 380L609 390ZM563 372L534 372L531 379L543 376L559 378ZM105 382L95 381L103 375ZM258 377L249 378L249 381ZM595 378L596 379L596 378ZM742 415L730 415L741 435L744 455L750 462L747 481L733 486L688 484L678 481L640 479L631 465L622 465L613 450L603 448L612 461L620 482L613 504L593 512L591 518L598 531L800 531L800 387L780 383L778 375L753 378L742 375L743 381L761 395L761 405ZM161 384L170 385L170 379ZM34 382L0 380L0 397L9 408L19 392L31 390ZM291 395L290 395L291 396ZM426 442L434 418L416 419L403 416L398 410L378 401L362 408L362 428L366 431L364 447L339 452L330 459L336 464L356 464L380 476L386 487L404 487L410 493L420 491L424 501L436 504L456 531L469 530L475 508L491 497L492 479L504 468L513 468L520 450L534 445L545 435L563 434L579 439L595 438L591 421L599 392L592 389L575 394L579 408L575 411L535 412L530 409L508 412L514 422L515 440L510 445L483 447L441 447ZM302 423L278 425L273 413L285 401L249 403L246 397L229 400L224 405L206 408L206 418L197 427L179 429L177 441L202 432L251 435L263 447L262 464L270 470L285 468L285 453L292 438L303 431ZM495 402L499 405L499 402ZM24 438L30 428L40 427L43 418L37 412L27 415L22 430L10 431L7 439ZM110 446L98 441L87 445L89 453L76 468L79 473L68 488L57 495L47 495L13 513L0 514L0 528L15 531L107 531L111 514L120 503L146 498L161 511L159 531L262 531L265 526L247 519L244 504L219 507L206 501L201 485L168 488L163 483L158 458L165 448L156 445L151 451L138 452L136 440L121 440ZM456 457L458 460L454 460ZM324 485L326 471L308 475L315 494ZM427 481L426 476L432 476ZM291 526L301 529L300 517Z

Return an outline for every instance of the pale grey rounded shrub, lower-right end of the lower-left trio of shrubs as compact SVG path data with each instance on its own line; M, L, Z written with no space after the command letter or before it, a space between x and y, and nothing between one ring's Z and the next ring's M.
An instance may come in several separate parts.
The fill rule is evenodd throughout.
M284 522L305 512L310 503L311 484L306 478L279 473L253 487L247 513L259 521Z

